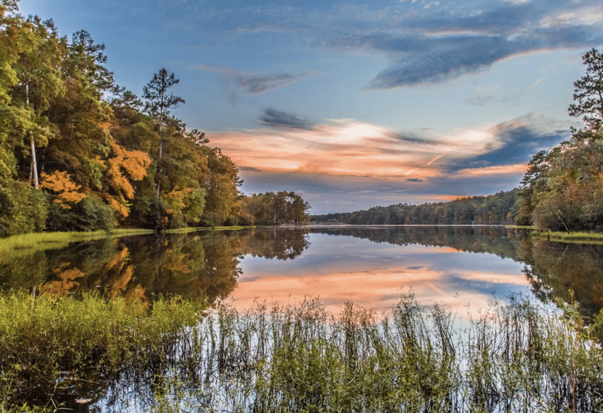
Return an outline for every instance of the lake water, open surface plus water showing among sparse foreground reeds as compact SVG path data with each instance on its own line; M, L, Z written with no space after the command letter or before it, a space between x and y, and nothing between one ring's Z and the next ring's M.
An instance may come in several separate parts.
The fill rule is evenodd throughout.
M152 303L159 296L180 296L205 300L215 306L227 304L226 312L209 312L209 316L200 318L202 321L197 327L178 333L166 359L151 358L144 366L129 367L93 383L70 385L67 381L70 373L62 372L67 378L60 376L57 380L65 379L68 386L61 387L60 391L55 389L53 400L65 402L66 407L75 411L162 411L157 407L160 406L158 400L168 403L178 400L177 403L192 403L195 409L212 406L224 411L232 410L232 406L255 406L255 403L264 402L280 405L285 403L283 397L287 394L280 390L282 380L307 379L303 386L314 386L316 379L312 375L317 373L312 370L312 363L318 363L315 368L326 369L325 377L334 380L321 390L321 397L339 397L341 394L332 392L329 386L339 386L338 380L346 383L355 380L353 377L357 374L354 368L350 370L350 363L360 357L358 360L365 363L362 368L374 373L371 363L375 362L377 354L381 354L379 352L385 351L384 348L388 350L377 358L379 363L389 366L383 367L383 371L393 376L381 383L378 375L373 377L373 373L366 373L367 386L377 388L372 392L362 386L354 388L354 397L357 397L354 400L358 403L370 405L372 402L367 402L367 398L379 395L386 382L391 387L386 399L393 397L393 406L415 403L414 399L404 401L406 395L413 394L412 386L424 383L432 371L448 369L443 376L431 378L444 380L449 386L446 403L464 406L467 402L464 394L478 397L476 395L483 392L484 400L497 406L493 411L507 406L505 403L513 406L517 400L524 403L521 406L525 403L532 406L529 398L517 399L515 394L520 392L525 397L535 395L557 400L559 406L554 411L564 411L564 403L572 399L571 389L575 386L566 371L573 371L575 365L570 363L557 376L553 370L537 374L530 379L534 382L505 381L505 377L522 377L525 365L531 365L529 369L532 370L540 369L543 360L540 353L559 357L552 358L551 363L570 360L571 357L563 356L565 353L559 353L557 346L560 344L555 341L559 340L563 345L569 343L567 351L581 348L594 351L594 355L585 353L582 356L589 360L587 362L592 360L589 371L594 372L594 379L588 379L590 381L581 391L583 394L603 391L598 379L600 354L595 351L596 347L576 345L574 330L554 324L563 322L559 321L558 313L548 318L550 322L542 322L545 318L534 316L520 304L497 313L494 327L467 322L463 327L469 331L467 339L477 341L467 341L459 347L461 350L450 350L452 347L444 345L456 336L453 330L458 330L445 316L438 321L439 313L434 313L435 318L430 321L434 324L429 325L421 324L420 318L423 309L438 304L467 321L472 316L481 316L482 310L494 301L513 302L515 298L511 297L517 296L537 303L538 308L554 309L555 300L571 300L570 291L578 301L582 315L593 315L603 307L602 257L603 246L548 242L546 238L532 238L525 230L504 226L253 228L113 237L75 242L57 249L17 249L0 257L0 289L4 292L25 289L34 295L57 296L92 290L107 299L121 296ZM409 293L415 300L411 305L408 300L400 301ZM320 299L321 306L316 306L315 298ZM365 313L350 312L351 307L346 304L350 301L374 309L382 316L393 314L392 327L385 324L376 329L371 327L376 321L366 323L362 321ZM246 313L251 307L262 308L263 303L267 312ZM303 312L298 313L301 318L298 317L297 324L291 328L288 326L292 310L284 316L270 310L273 306L288 305L303 308ZM398 309L397 313L394 307ZM233 313L229 308L239 313ZM342 321L327 319L323 310L334 314L347 311L347 316ZM432 329L438 325L442 328ZM392 328L391 333L387 328ZM430 332L426 333L428 330ZM301 334L308 334L308 338L300 338L299 331L305 331ZM440 339L444 341L437 344L441 331L444 335ZM560 335L560 331L568 332ZM432 333L437 339L435 342L430 341ZM275 339L277 336L278 340ZM350 337L356 348L353 353L349 353ZM417 347L409 347L409 338L411 342L418 340ZM517 342L513 344L510 338ZM462 335L456 339L462 340ZM316 350L313 347L315 341L326 347ZM497 344L493 345L494 342ZM505 348L527 346L529 349L532 342L541 343L538 348L550 345L551 349L537 353L511 352L513 357L519 358L505 361L511 354ZM440 345L443 347L438 347ZM493 348L481 353L483 350L479 349L485 345ZM412 359L415 351L432 354L432 348L436 349L435 358L432 355L422 361ZM337 353L340 350L342 353ZM318 353L312 353L314 351ZM331 351L340 355L329 361ZM356 351L365 353L361 356ZM501 353L497 354L496 360L503 364L494 368L490 358L497 351ZM303 359L312 354L318 356ZM480 354L485 354L485 358ZM279 357L284 358L280 360ZM417 364L419 361L426 364ZM280 362L283 362L282 370L278 370ZM476 367L472 367L473 363ZM291 368L300 370L290 376ZM482 386L483 374L479 372L484 368L492 369L487 373L494 380L490 385L497 387L494 393L493 389ZM337 374L342 371L352 376L338 379ZM411 380L415 383L412 385L405 382L408 391L400 390L405 386L402 383L394 383L402 377L396 371L409 372L412 377L405 380L415 380ZM446 381L450 377L461 377L461 371L466 374L465 378L452 384ZM499 376L501 371L507 373ZM274 383L277 384L262 381L264 374L273 377L271 380L276 380ZM188 384L180 383L183 377ZM157 389L168 389L169 392L157 393ZM271 395L263 394L263 391L269 391ZM273 398L274 391L278 394L276 399ZM183 399L178 399L181 396ZM25 400L44 405L49 403L45 397L45 394L30 395ZM294 394L294 397L297 400L294 403L300 403L306 396L297 399L300 396ZM467 400L471 403L482 400L479 399L481 395L475 397L472 402ZM578 411L599 406L599 399L595 399L584 399ZM375 403L383 400L379 395ZM432 403L443 399L424 393L417 400ZM441 411L450 411L447 406L440 406Z

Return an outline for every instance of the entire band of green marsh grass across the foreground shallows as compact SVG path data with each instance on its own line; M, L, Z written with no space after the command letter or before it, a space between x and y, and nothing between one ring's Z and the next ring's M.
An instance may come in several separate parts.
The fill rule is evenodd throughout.
M456 315L412 296L380 320L351 303L331 315L314 299L219 306L198 319L182 301L146 312L16 295L0 301L2 407L16 409L34 382L60 395L95 380L90 372L118 369L113 403L132 400L125 389L137 380L137 403L152 411L598 411L601 319L584 325L574 307L562 310L511 299L459 330Z

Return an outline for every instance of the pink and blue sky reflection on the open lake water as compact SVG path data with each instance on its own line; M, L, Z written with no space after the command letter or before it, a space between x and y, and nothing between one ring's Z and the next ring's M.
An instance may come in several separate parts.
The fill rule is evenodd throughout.
M293 260L245 255L231 295L235 306L248 308L254 301L295 304L311 295L335 312L350 299L380 311L410 290L421 304L468 306L473 312L493 298L531 295L524 264L494 254L326 234L310 234L309 242Z

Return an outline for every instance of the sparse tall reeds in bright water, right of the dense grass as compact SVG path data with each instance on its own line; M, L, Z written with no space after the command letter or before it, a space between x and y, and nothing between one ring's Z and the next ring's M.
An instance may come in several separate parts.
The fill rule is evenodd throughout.
M172 385L152 405L178 394L186 408L169 411L601 411L601 346L579 320L573 307L545 313L522 299L461 330L412 296L385 319L352 304L335 317L316 300L220 307L180 342Z

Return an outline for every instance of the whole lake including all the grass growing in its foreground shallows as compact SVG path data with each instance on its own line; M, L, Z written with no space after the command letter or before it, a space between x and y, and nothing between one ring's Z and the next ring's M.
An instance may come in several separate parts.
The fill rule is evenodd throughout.
M592 411L600 248L503 227L21 245L0 411Z

